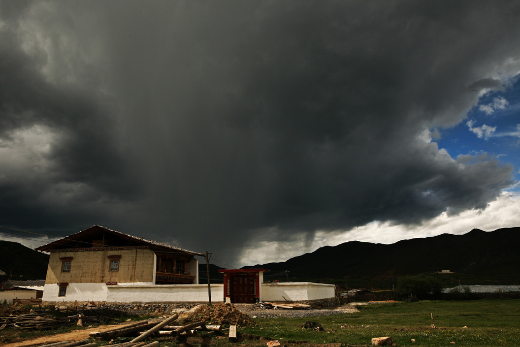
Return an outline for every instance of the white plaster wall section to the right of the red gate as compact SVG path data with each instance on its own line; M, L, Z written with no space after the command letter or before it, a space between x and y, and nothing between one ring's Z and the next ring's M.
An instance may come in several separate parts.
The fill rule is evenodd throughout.
M260 301L305 301L334 298L334 285L311 282L262 284Z

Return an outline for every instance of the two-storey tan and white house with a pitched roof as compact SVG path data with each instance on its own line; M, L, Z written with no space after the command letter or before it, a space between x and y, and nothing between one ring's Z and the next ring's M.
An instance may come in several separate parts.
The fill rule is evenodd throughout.
M194 255L203 255L99 225L36 250L50 252L43 302L107 301L115 286L198 285Z

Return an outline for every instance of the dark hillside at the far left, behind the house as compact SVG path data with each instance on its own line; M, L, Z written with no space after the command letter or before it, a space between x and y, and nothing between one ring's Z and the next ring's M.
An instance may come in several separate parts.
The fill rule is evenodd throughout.
M7 279L13 280L45 279L49 255L35 251L18 242L0 241L0 270Z

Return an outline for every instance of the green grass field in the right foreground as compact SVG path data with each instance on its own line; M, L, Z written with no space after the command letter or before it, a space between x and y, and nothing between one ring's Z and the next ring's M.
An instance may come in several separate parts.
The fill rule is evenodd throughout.
M283 345L290 345L289 341L371 345L373 337L391 336L397 346L453 345L450 342L456 346L520 346L520 300L517 299L402 302L359 308L361 311L355 314L308 319L255 319L256 327L240 331L280 340ZM319 322L326 331L302 330L305 320Z

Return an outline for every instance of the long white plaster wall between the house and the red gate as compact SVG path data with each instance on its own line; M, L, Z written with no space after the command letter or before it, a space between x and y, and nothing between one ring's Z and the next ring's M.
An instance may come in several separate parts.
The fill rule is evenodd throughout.
M108 302L208 301L207 285L109 286ZM211 285L211 301L224 301L224 285Z

